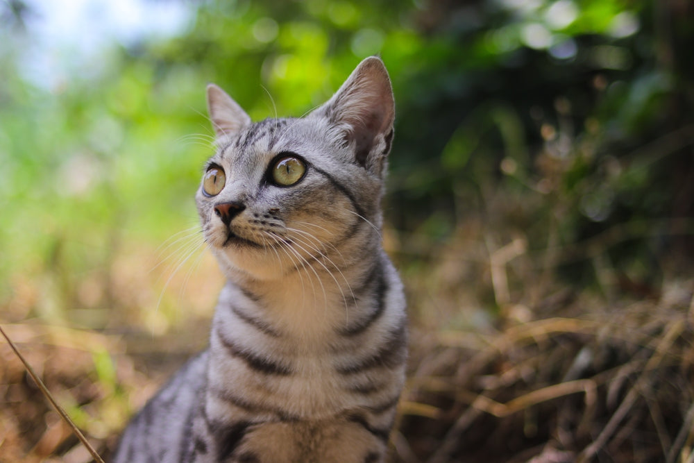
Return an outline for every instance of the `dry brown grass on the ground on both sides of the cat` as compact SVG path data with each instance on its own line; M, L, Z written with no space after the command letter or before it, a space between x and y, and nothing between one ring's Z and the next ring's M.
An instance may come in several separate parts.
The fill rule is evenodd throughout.
M532 267L525 237L465 230L427 258L399 254L412 346L393 460L694 462L694 279L579 290ZM128 415L204 344L207 319L184 321L156 338L6 330L108 461ZM0 462L91 460L4 343L0 396Z

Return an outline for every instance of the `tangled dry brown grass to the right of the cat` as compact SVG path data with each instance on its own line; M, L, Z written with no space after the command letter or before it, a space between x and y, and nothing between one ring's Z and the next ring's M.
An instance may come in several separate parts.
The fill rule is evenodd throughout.
M611 267L632 228L530 252L526 235L473 223L434 253L430 277L409 282L394 460L694 462L694 279L676 259L661 280ZM579 249L599 289L557 278Z

